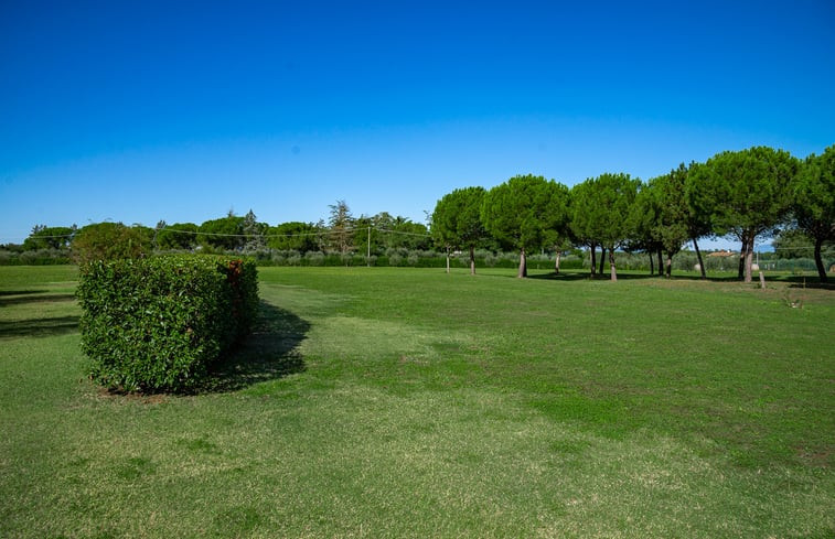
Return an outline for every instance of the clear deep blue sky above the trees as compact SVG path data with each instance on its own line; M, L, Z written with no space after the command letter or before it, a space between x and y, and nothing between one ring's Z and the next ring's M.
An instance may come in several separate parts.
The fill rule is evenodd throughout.
M835 143L835 2L0 2L0 242Z

